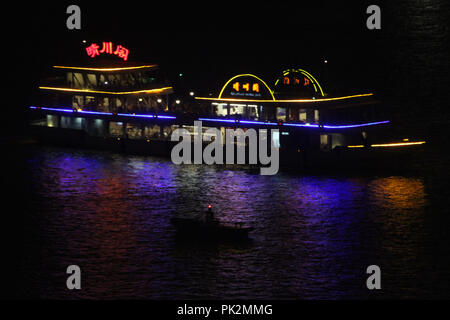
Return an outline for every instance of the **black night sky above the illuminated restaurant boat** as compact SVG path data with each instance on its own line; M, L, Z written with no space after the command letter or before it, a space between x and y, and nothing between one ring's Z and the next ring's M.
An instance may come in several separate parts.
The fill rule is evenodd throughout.
M427 66L441 69L444 61L448 67L448 59L442 57L448 52L447 44L443 44L448 40L448 27L442 27L445 21L441 20L445 19L440 14L448 6L436 0L438 8L430 11L436 16L434 20L429 22L425 19L429 14L424 14L423 25L416 25L417 20L409 15L427 13L429 9L421 8L416 1L416 7L406 10L407 2L400 2L378 3L382 7L382 30L377 31L365 26L365 11L371 4L366 1L357 5L342 1L297 1L295 5L212 1L76 3L82 11L81 31L66 28L65 11L70 2L16 4L3 20L3 30L8 30L6 40L12 48L7 61L17 60L9 81L13 88L20 88L12 112L20 113L23 106L33 103L37 82L51 65L80 61L79 57L85 55L83 39L123 43L132 50L130 60L160 64L173 82L182 72L189 89L198 93L217 92L237 73L255 73L273 83L286 67L307 69L331 93L394 93L401 100L417 92L415 84L411 84L412 76L425 76L428 82L448 88L434 71L418 68L411 73L409 69L416 67L422 57L424 61L419 62ZM431 45L426 40L422 43L427 35L419 32L429 25L442 27L439 31L444 34ZM409 37L411 28L417 29L417 35ZM418 52L416 43L430 52L437 51L437 57L428 57L426 51L414 56ZM324 59L329 61L326 66Z

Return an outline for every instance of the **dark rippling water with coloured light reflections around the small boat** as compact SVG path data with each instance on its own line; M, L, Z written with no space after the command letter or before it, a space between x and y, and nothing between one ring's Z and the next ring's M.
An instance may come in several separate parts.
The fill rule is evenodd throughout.
M448 258L433 247L422 178L260 176L59 149L31 152L27 163L23 269L32 286L24 294L335 299L433 297L446 288ZM170 218L198 216L209 203L222 221L254 226L252 241L177 242ZM65 289L70 264L83 272L75 293ZM382 294L365 289L371 264L382 269Z

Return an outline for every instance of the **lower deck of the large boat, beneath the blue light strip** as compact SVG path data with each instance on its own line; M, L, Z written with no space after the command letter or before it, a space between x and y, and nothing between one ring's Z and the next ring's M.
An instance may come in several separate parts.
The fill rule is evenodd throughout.
M201 120L177 119L170 116L142 119L121 115L100 116L61 114L60 111L33 111L30 128L32 135L40 142L162 157L170 157L172 148L178 143L178 141L171 141L171 135L175 129L183 128L195 135L199 131L198 127L194 126L194 120ZM286 168L400 169L405 168L406 163L414 160L417 152L423 150L422 145L408 146L407 144L405 148L370 147L375 146L370 144L370 141L376 142L377 135L381 136L380 132L385 131L386 127L383 125L327 130L317 127L289 126L287 123L264 125L250 124L248 121L224 123L221 119L203 119L200 131L202 138L205 139L208 129L211 128L216 128L219 130L217 132L225 134L226 129L241 128L247 132L249 127L268 129L269 141L277 148L280 155L280 166ZM209 137L208 141L211 140L214 139ZM239 141L234 142L235 156L237 148L244 146L245 163L249 163L249 140L245 139L243 145L240 145ZM203 148L207 145L208 142L203 141ZM224 144L222 147L225 159L227 149ZM413 157L411 157L412 149L415 154Z

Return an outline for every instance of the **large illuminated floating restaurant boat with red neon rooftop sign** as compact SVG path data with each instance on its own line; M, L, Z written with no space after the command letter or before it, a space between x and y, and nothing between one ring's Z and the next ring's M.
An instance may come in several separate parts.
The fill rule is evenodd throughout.
M280 165L293 168L386 163L380 159L400 165L410 158L409 148L425 143L388 140L391 122L373 93L329 96L304 69L282 71L274 89L256 75L235 75L217 96L202 97L175 92L158 65L133 62L122 45L86 46L80 50L88 62L55 65L39 85L42 100L29 107L37 139L170 156L177 143L172 132L182 127L198 134L194 121L202 121L203 136L208 128L219 129L222 141L227 128L278 129L269 143L279 149Z

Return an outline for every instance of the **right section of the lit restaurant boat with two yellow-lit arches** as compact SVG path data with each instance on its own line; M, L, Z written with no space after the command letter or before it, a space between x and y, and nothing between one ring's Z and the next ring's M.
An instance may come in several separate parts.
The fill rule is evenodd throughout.
M406 168L425 141L392 138L389 106L373 93L327 94L311 73L291 68L272 89L260 77L231 77L217 96L196 97L215 117L207 125L279 129L280 165L306 169ZM411 152L414 149L414 157Z

